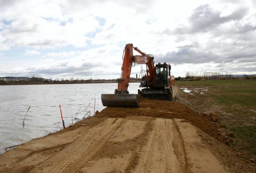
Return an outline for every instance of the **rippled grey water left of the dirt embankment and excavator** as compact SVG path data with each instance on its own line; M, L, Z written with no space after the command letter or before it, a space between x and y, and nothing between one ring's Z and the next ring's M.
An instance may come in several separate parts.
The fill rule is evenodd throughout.
M139 83L129 83L129 92L137 94ZM89 110L104 109L101 94L112 94L117 83L10 85L0 86L0 154L4 148L24 143L63 128L59 104L65 125L81 119ZM90 104L90 105L89 105ZM84 109L89 107L84 111ZM24 128L22 122L28 107Z

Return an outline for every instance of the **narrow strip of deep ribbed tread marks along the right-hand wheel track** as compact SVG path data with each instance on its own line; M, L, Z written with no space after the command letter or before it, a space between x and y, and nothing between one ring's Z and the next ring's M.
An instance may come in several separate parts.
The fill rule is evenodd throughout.
M179 130L178 125L172 119L172 147L174 148L174 152L177 155L178 161L180 163L181 169L183 172L191 172L188 167L188 160L185 151L184 141L182 140L182 136Z

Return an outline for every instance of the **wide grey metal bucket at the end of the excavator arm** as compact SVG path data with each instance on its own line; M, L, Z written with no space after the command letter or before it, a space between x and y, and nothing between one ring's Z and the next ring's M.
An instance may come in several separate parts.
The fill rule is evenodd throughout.
M101 94L103 106L108 107L139 107L138 94Z

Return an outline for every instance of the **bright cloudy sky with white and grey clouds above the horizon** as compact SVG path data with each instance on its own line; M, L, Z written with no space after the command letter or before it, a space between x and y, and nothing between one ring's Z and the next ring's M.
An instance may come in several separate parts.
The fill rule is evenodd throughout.
M127 43L174 76L256 74L256 0L0 0L0 76L117 78Z

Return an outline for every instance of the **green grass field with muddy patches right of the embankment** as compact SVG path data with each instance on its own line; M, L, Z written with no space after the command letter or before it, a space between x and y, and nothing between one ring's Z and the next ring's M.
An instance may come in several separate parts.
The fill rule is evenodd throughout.
M216 112L223 133L235 133L231 145L256 157L256 80L177 81L187 88L197 112Z

